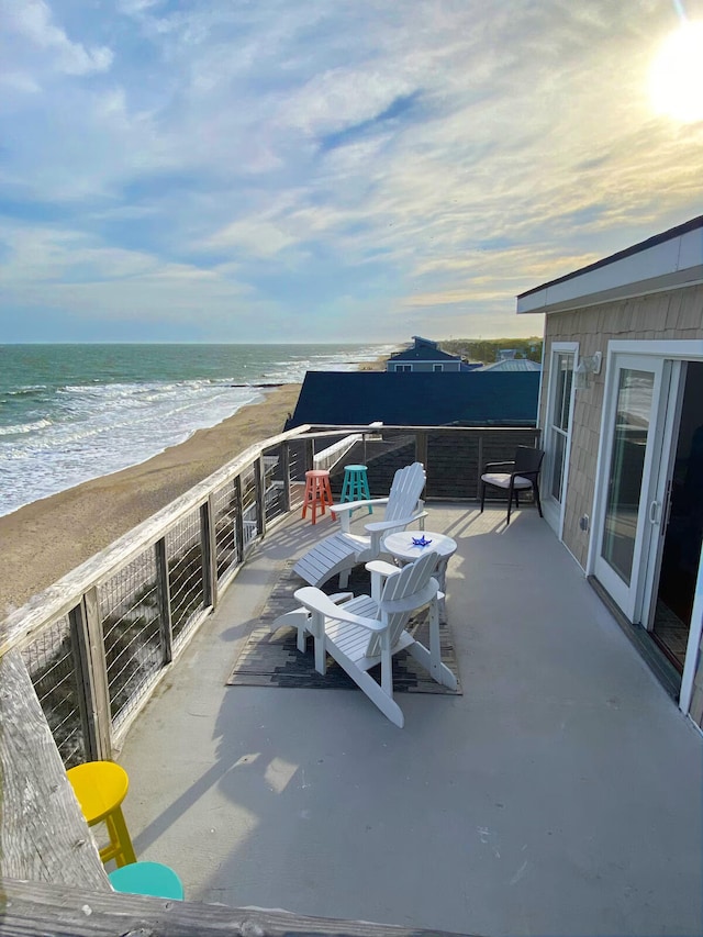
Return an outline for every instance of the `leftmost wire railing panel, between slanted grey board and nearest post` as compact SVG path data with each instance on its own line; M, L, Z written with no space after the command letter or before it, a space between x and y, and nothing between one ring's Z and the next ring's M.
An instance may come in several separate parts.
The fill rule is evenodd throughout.
M23 648L22 657L66 768L88 758L80 716L78 655L68 616L54 622Z

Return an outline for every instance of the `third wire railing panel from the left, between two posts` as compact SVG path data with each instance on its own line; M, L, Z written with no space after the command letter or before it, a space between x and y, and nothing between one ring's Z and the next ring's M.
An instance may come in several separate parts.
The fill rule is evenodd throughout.
M179 521L166 536L174 645L185 640L204 609L200 511Z

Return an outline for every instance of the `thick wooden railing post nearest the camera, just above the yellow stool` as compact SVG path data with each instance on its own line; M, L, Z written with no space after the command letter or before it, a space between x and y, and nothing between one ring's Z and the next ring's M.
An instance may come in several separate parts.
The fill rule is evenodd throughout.
M89 589L68 613L71 638L78 649L79 706L90 759L112 758L112 716L105 646L98 605L98 590Z

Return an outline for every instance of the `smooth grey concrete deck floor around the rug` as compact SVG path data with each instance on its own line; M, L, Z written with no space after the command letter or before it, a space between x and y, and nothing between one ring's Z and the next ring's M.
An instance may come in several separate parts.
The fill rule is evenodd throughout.
M703 738L534 509L431 503L461 696L226 687L270 532L119 758L137 856L187 897L480 935L699 935ZM361 518L361 523L365 518Z

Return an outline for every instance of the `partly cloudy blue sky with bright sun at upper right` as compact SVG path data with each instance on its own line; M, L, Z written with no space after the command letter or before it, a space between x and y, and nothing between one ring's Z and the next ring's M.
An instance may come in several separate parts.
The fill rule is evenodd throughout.
M703 213L703 70L651 89L701 21L0 0L0 343L539 335L517 293Z

